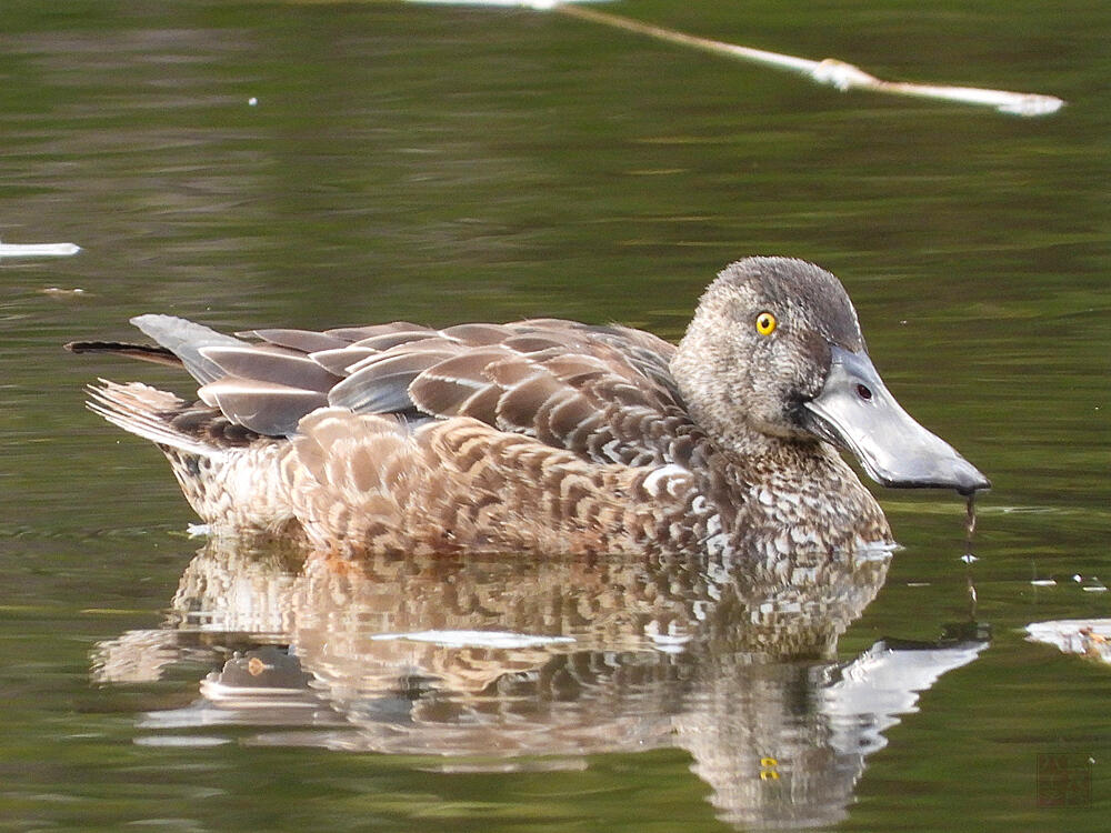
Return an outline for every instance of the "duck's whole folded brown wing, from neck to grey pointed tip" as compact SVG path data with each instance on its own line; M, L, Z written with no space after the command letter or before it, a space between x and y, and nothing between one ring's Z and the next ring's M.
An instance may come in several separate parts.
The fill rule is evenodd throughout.
M630 328L396 322L232 338L167 315L133 323L182 360L202 401L260 434L291 435L327 404L470 416L589 460L644 465L685 464L699 433L668 368L674 345Z

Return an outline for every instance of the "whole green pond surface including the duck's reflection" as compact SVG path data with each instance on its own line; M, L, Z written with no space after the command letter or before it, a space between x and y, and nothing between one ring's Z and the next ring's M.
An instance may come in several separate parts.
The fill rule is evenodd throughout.
M1104 827L1111 669L1024 628L1111 616L1107 11L609 8L1069 106L842 96L524 11L6 8L0 239L84 247L0 265L7 829ZM153 311L677 339L755 253L839 274L892 391L992 479L971 568L955 495L882 490L903 549L801 595L229 554L186 538L157 450L82 410L97 375L180 380L59 348ZM1090 804L1038 806L1047 753L1094 762Z

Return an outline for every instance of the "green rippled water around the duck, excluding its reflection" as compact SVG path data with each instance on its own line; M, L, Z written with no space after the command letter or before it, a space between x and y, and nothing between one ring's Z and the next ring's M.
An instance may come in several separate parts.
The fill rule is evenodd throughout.
M1111 669L1022 629L1111 616L1093 592L1111 580L1109 7L609 8L1069 106L838 94L528 11L4 3L0 239L84 251L0 264L0 829L729 830L720 785L665 741L452 769L258 745L249 721L167 729L222 659L127 683L93 656L160 628L200 544L161 456L87 413L82 385L172 377L59 345L130 338L152 311L226 330L558 315L675 339L715 270L781 253L842 278L895 395L994 482L974 610L961 502L880 495L905 549L840 655L970 620L991 640L842 780L841 829L1105 830ZM1045 753L1094 761L1090 805L1037 805Z

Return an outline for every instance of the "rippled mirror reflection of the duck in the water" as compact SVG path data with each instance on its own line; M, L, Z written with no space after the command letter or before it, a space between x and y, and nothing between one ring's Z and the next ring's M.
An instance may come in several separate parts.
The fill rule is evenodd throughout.
M582 765L680 746L739 826L842 819L881 732L987 644L837 640L885 551L769 569L687 559L378 558L359 565L211 542L167 626L100 645L101 682L222 670L156 732L264 726L251 742L446 756L443 769ZM451 757L447 757L451 756Z

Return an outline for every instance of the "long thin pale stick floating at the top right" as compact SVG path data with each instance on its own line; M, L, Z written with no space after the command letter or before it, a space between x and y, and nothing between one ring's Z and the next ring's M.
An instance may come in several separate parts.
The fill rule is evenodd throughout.
M444 3L466 6L517 6L540 11L557 11L568 17L579 20L589 20L593 23L601 23L614 29L623 29L628 32L645 34L649 38L678 43L680 46L699 49L703 52L737 58L742 61L763 63L769 67L790 70L817 81L818 83L835 87L842 92L851 89L872 90L873 92L885 92L895 96L913 96L917 98L943 99L957 101L964 104L980 104L992 107L1003 113L1012 116L1049 116L1055 113L1064 106L1064 101L1055 96L1042 96L1034 92L1010 92L1009 90L985 90L978 87L950 87L948 84L921 84L909 81L884 81L875 76L864 72L859 67L839 61L835 58L827 58L823 61L812 61L808 58L782 54L780 52L769 52L763 49L752 49L741 47L735 43L724 43L722 41L699 38L693 34L678 32L674 29L642 23L639 20L623 18L618 14L598 11L597 9L584 9L571 4L572 2L589 0L571 0L571 2L558 2L557 0L409 0L418 3Z

